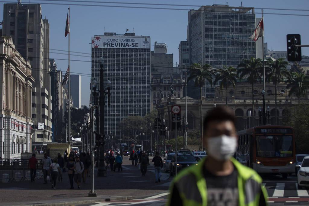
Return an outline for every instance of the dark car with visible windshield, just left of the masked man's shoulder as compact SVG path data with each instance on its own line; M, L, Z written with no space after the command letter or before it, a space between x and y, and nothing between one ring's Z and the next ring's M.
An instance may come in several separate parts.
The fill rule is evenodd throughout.
M177 162L175 161L176 154L171 160L170 164L170 174L174 175L176 173L176 167L177 172L182 170L183 168L186 168L191 165L197 165L197 161L195 157L192 154L177 154Z

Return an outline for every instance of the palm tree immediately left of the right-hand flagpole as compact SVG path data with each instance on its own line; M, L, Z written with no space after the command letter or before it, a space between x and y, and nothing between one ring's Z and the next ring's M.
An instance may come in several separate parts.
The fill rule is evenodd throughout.
M260 58L256 59L251 57L251 59L243 59L243 62L240 63L237 68L237 74L239 75L239 79L247 78L247 81L252 86L252 119L253 119L253 127L255 126L255 114L254 114L254 95L253 95L253 84L257 82L259 79L262 81L261 73L262 73L262 60Z

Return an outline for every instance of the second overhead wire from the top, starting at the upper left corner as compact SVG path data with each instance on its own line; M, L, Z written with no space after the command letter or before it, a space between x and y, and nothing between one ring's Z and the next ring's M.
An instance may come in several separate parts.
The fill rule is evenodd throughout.
M41 1L41 0L40 0ZM55 0L56 1L56 0ZM15 3L9 1L0 1L2 3ZM42 3L47 5L66 5L66 6L99 6L99 7L115 7L115 8L136 8L136 9L159 9L159 10L175 10L175 11L190 11L190 9L178 9L178 8L163 8L163 7L143 7L143 6L111 6L111 5L98 5L98 4L72 4L72 3ZM195 10L197 12L201 12L201 10ZM290 16L309 16L304 14L279 14L279 13L263 13L269 15L290 15Z

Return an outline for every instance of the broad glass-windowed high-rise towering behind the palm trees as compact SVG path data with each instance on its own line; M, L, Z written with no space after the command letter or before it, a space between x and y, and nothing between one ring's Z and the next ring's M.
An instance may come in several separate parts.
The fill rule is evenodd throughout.
M188 12L189 61L237 67L244 58L256 57L256 43L249 39L256 27L253 7L202 6ZM214 88L206 86L206 97Z

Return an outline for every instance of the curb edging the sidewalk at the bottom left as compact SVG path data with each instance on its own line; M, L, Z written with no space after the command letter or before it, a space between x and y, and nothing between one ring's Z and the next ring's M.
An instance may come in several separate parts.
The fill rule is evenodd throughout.
M88 200L76 200L81 198L74 199L60 199L58 202L53 202L54 200L46 200L46 202L40 203L36 202L28 202L28 203L2 203L0 205L8 205L8 206L73 206L79 204L89 204L96 202L110 202L110 201L121 201L121 200L131 200L136 198L135 196L98 196L96 198L90 197ZM83 198L85 199L85 198ZM50 202L48 202L50 201Z

